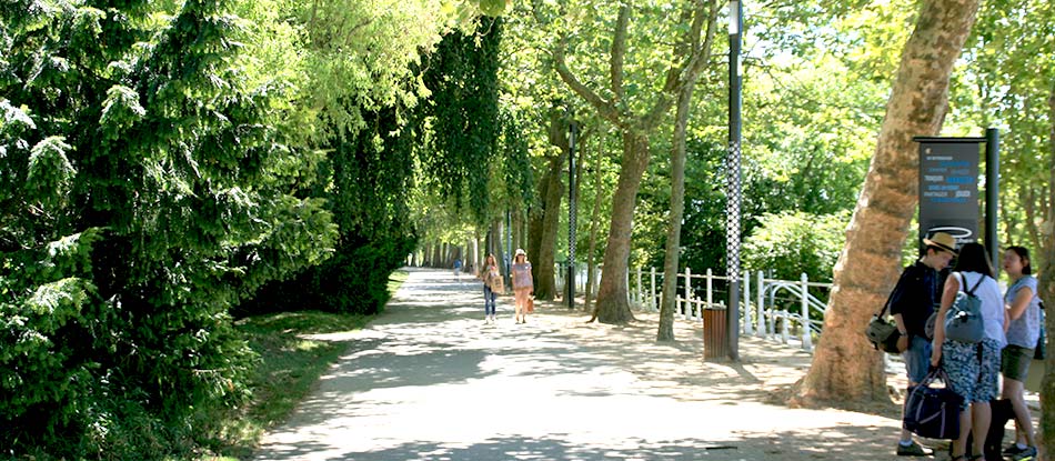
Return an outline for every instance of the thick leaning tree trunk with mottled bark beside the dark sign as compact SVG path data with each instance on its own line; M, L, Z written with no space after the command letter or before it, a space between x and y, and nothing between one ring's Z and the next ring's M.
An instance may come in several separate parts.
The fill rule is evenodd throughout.
M977 10L978 0L928 0L920 10L835 264L824 333L794 403L890 399L882 352L862 330L897 280L901 249L918 202L918 147L912 138L941 130L949 73Z

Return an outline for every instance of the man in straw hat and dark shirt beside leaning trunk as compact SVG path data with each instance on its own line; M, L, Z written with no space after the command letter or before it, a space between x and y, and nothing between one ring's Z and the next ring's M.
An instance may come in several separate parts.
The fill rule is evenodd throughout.
M956 239L948 233L935 232L923 239L923 244L926 245L923 257L902 272L890 301L891 315L901 333L897 350L902 351L905 360L910 387L918 384L927 375L931 339L927 338L926 323L941 300L938 272L956 257ZM930 451L912 440L907 429L902 429L897 454L925 457Z

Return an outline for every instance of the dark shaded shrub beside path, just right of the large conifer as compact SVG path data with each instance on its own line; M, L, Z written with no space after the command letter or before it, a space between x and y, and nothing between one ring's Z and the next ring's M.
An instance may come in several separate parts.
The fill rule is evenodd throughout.
M395 109L361 112L366 129L336 133L320 162L331 178L312 194L325 198L340 228L332 257L290 281L277 281L241 312L319 309L373 314L389 300L385 281L416 245L408 217L413 188L414 124L401 127Z

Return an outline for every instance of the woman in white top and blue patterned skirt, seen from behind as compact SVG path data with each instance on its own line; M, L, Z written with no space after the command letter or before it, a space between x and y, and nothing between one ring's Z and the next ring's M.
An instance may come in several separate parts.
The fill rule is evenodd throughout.
M965 243L959 249L955 271L945 279L942 304L934 322L931 365L941 365L948 374L948 384L964 398L959 412L959 438L953 441L951 461L975 461L984 458L985 438L992 421L989 401L998 394L1001 350L1004 337L1004 300L993 278L993 267L981 243ZM981 300L983 337L978 343L945 338L945 315L959 291L971 291ZM967 409L971 409L969 412ZM967 434L973 447L967 447Z

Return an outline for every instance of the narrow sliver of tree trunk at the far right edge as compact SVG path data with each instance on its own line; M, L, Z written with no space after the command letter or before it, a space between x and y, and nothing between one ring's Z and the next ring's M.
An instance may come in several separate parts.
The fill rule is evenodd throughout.
M1048 120L1052 129L1048 132L1048 142L1051 143L1051 159L1048 160L1048 198L1047 198L1047 222L1044 223L1041 241L1044 245L1039 249L1043 254L1041 267L1041 285L1037 291L1041 292L1041 299L1048 305L1045 320L1047 330L1047 359L1044 361L1044 379L1041 383L1041 459L1052 459L1045 455L1055 447L1055 340L1052 334L1055 333L1055 82L1052 82L1052 89L1047 97Z

